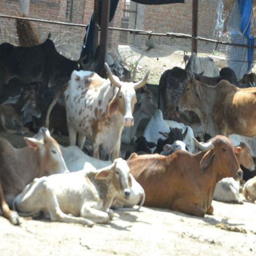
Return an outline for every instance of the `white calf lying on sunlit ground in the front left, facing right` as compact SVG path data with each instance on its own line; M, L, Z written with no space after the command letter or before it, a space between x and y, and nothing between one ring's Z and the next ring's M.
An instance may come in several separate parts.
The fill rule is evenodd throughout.
M130 186L129 167L122 158L99 170L86 163L77 172L34 179L15 197L13 208L26 215L43 211L51 221L107 224L114 216L110 206L117 191L129 199Z

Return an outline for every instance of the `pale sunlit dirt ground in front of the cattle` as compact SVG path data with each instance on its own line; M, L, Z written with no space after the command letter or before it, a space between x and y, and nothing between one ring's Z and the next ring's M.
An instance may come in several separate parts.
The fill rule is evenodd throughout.
M0 137L25 146L22 136ZM0 216L0 255L256 255L256 205L213 201L213 207L204 218L146 207L115 211L110 224L92 228L31 218L13 226Z

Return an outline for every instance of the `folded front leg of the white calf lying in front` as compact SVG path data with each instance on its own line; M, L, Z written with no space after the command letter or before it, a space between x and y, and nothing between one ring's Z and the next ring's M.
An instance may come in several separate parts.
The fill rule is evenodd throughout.
M111 213L109 214L109 213L88 207L88 205L84 205L84 207L82 207L81 216L101 224L107 224L109 223L110 217L113 218Z

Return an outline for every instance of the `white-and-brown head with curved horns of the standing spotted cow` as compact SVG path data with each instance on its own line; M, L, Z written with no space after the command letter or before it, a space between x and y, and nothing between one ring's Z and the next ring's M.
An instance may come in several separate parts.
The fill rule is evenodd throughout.
M147 82L149 71L145 75L145 77L137 83L128 83L128 82L121 82L118 77L114 76L111 73L111 70L107 63L105 63L106 73L110 82L119 88L116 95L110 101L108 106L108 116L112 117L117 110L123 115L123 124L125 126L132 126L133 125L133 110L134 105L137 101L135 90L144 86Z

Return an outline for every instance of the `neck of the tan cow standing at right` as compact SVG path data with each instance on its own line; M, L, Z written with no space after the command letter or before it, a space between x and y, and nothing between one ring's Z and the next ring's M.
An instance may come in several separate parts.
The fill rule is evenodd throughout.
M214 137L219 134L219 129L212 119L212 112L217 98L217 90L215 86L209 86L202 83L199 84L199 90L201 96L201 109L196 109L196 114L201 120L204 131Z

